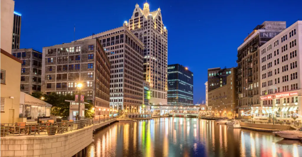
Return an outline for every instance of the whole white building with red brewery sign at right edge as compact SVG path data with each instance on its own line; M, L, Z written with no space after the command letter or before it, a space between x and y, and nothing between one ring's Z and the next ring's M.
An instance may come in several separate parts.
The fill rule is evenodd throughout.
M261 107L254 117L301 122L302 94L300 52L302 21L297 21L259 47Z

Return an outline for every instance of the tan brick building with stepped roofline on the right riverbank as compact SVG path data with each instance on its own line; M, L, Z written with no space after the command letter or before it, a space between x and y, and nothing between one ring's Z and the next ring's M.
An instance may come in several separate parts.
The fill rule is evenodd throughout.
M234 118L238 114L236 100L236 68L230 68L226 84L208 92L207 113L214 116Z

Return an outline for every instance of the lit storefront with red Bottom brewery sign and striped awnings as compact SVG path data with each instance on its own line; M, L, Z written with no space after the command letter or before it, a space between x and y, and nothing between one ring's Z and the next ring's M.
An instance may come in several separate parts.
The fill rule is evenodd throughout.
M301 122L301 97L299 91L271 94L261 97L262 117L274 118L276 122ZM270 107L267 107L270 106ZM267 108L269 108L267 110ZM254 112L256 113L256 112ZM261 114L262 113L262 114Z

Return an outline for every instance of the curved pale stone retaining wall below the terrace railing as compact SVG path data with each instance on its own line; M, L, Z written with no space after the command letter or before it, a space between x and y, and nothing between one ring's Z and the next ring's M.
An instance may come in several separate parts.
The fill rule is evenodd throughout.
M1 137L0 156L71 157L92 142L93 128L52 136Z

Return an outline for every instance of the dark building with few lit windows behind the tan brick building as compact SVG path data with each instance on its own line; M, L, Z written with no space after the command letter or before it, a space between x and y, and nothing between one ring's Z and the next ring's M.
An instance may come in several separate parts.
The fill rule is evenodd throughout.
M210 68L208 69L208 92L226 85L226 76L231 74L232 68Z

